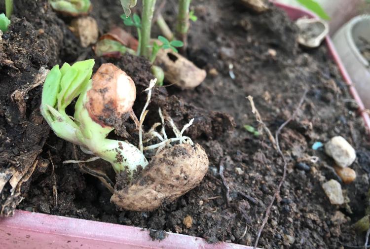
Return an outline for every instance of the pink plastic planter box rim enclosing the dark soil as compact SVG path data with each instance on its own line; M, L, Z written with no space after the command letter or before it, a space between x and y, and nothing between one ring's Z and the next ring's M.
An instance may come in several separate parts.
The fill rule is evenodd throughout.
M284 4L276 5L284 9L292 19L304 15L314 16ZM364 105L329 37L326 37L326 44L360 110L363 110ZM366 125L370 127L368 114L362 112L362 115ZM0 218L1 249L252 249L231 243L207 244L201 238L175 233L168 233L168 237L162 241L152 241L148 233L148 230L138 227L21 210L16 211L13 217Z

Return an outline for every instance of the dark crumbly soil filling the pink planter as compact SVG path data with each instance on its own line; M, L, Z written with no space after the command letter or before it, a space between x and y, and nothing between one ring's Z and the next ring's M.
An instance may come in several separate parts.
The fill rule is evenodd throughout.
M176 1L167 2L163 15L173 24ZM91 16L97 19L101 33L113 25L123 26L119 1L92 3ZM288 176L272 206L259 247L334 249L363 245L364 237L356 237L351 224L364 215L366 208L369 133L325 45L314 50L298 47L296 27L273 6L257 15L236 0L194 0L192 5L199 18L191 24L186 56L207 70L208 76L194 90L156 88L145 129L159 121L158 107L167 111L179 127L194 118L187 135L205 148L209 172L198 187L173 203L153 212L128 212L110 203L111 192L97 178L82 173L77 165L62 164L74 159L73 145L57 138L42 122L38 109L41 86L30 89L18 102L12 101L10 95L33 84L41 66L51 68L94 56L90 47L79 47L68 30L69 20L54 14L46 0L17 1L9 32L0 40L0 171L11 167L24 153L42 148L37 158L50 160L50 151L58 192L55 203L51 164L47 169L37 168L23 187L25 199L19 208L183 233L211 243L252 245L282 177L283 162L265 134L256 137L244 130L245 124L258 126L245 97L254 97L262 119L274 132L308 89L297 117L280 136ZM140 113L146 101L142 90L153 77L148 62L132 56L95 59L95 70L109 61L133 78L138 93L134 111ZM229 76L230 64L235 79ZM23 111L22 103L26 105ZM133 128L133 123L126 122L110 136L136 143ZM314 142L326 142L335 135L349 141L358 156L351 166L357 173L356 180L342 184L348 197L348 203L342 206L331 205L321 187L326 180L340 180L333 171L333 160L322 150L311 149ZM313 163L312 156L319 160ZM218 173L221 161L230 187L229 206ZM298 162L305 166L296 167ZM95 164L109 168L101 160ZM1 205L9 188L6 186L0 195ZM183 224L187 215L193 221L190 228ZM154 238L164 236L156 231L152 234Z

